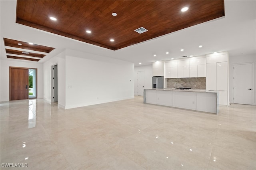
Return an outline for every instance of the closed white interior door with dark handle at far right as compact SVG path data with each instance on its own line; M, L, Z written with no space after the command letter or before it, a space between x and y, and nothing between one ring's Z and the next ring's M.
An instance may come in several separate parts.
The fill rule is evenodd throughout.
M252 64L234 65L234 103L252 105Z

